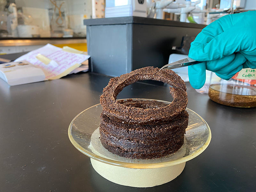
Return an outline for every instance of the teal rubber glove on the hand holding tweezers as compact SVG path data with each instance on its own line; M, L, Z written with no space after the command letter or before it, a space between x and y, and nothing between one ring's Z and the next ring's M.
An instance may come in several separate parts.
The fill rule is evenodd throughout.
M236 54L235 54L236 53ZM188 66L195 89L205 83L205 70L230 79L242 68L256 68L256 11L226 15L206 26L191 43L189 57L206 61Z

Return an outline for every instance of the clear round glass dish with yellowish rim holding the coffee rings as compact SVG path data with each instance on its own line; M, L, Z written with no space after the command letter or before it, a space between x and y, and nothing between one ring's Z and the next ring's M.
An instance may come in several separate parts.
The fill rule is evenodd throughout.
M85 109L72 120L68 127L68 137L83 154L106 164L137 169L172 166L184 163L201 154L209 145L212 137L210 127L204 119L194 111L188 108L186 110L189 120L183 146L176 153L158 159L130 159L114 155L105 149L100 143L99 132L97 132L102 112L100 104Z

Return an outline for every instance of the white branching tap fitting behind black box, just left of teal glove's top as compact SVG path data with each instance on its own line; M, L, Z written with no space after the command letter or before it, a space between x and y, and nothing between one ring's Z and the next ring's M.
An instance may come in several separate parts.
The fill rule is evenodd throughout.
M205 10L201 10L200 8L197 8L196 5L201 3L201 0L191 2L191 1L185 1L185 0L176 0L175 1L178 4L184 4L186 7L177 8L177 9L164 9L164 12L168 13L174 13L177 15L180 15L180 22L189 22L187 20L188 14L190 13L205 13Z

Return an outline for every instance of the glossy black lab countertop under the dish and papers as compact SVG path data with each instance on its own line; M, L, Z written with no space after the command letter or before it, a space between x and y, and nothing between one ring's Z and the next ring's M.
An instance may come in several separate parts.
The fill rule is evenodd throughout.
M255 191L255 108L217 104L189 83L188 108L209 124L209 147L161 186L132 188L101 177L69 141L68 125L99 103L109 79L82 73L12 87L0 79L0 191ZM121 98L172 100L168 86L138 82L125 87Z

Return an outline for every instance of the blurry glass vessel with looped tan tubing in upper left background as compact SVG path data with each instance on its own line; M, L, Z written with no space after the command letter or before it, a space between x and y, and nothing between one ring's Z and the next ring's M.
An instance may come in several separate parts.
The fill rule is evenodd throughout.
M51 36L62 37L64 30L68 28L65 0L49 0L49 14L51 25Z

